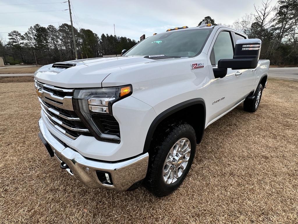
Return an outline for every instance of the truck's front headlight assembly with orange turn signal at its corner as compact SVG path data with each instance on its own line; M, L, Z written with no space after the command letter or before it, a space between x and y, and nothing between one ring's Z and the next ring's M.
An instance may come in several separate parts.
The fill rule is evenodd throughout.
M99 119L103 116L113 117L113 103L131 94L131 85L113 88L76 89L73 97L74 109L96 139L120 142L120 134L104 131Z

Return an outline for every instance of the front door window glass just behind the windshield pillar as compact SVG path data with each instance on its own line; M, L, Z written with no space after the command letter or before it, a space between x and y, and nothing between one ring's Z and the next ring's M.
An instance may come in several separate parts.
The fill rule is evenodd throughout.
M230 32L222 31L218 34L210 56L212 65L217 65L220 59L232 59L234 49Z

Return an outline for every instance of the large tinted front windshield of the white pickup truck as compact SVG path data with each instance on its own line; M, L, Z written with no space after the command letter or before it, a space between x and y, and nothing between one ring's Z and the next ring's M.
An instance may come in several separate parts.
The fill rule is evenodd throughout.
M164 55L192 57L201 53L212 29L168 31L150 36L124 56Z

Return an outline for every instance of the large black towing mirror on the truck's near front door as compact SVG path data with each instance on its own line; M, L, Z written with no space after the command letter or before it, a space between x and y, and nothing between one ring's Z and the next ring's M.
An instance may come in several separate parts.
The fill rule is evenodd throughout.
M220 59L218 68L253 69L257 67L260 49L260 39L237 40L233 59Z

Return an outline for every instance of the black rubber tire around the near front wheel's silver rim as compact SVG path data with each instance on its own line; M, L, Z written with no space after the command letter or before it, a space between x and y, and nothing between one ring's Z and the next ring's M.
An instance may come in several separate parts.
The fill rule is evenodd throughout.
M182 138L187 138L190 141L190 156L187 165L175 182L166 184L162 174L165 159L168 158L173 145ZM163 197L169 195L181 185L191 167L196 148L195 130L185 122L168 122L156 130L152 143L149 151L148 172L143 185L155 196Z

